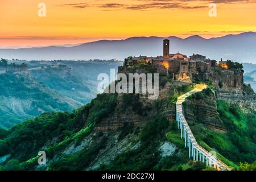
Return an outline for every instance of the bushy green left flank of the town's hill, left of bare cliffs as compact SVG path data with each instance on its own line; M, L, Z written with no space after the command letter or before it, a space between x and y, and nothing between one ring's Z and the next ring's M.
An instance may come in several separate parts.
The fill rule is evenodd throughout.
M2 131L5 138L0 140L0 156L9 154L10 159L22 162L22 167L29 169L31 165L36 165L37 160L34 157L37 152L55 138L56 142L48 144L46 150L48 158L53 158L71 142L79 144L98 121L114 111L116 101L115 94L100 94L89 105L73 111L72 114L46 113L15 125L7 134ZM87 152L85 151L86 154Z

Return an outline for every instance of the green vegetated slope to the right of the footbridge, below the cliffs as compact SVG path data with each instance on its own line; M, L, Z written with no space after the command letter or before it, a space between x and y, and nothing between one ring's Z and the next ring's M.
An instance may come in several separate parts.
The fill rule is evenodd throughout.
M209 86L203 92L193 94L188 100L201 100L201 103L215 107L213 98L214 89ZM234 168L237 168L240 162L254 162L256 117L253 111L244 113L240 106L218 100L217 111L220 118L215 119L216 122L222 123L223 129L227 131L223 133L208 129L203 122L205 115L195 109L192 103L193 101L188 105L188 102L185 102L184 107L189 107L195 115L197 124L191 125L191 130L202 147L208 151L217 151L218 158Z

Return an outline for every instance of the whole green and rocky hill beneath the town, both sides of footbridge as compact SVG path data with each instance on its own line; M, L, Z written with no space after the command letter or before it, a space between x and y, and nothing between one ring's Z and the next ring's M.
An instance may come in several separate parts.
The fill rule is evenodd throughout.
M193 85L172 81L168 76L161 77L160 85L156 101L138 94L100 94L71 114L43 114L1 130L0 168L212 170L189 160L176 127L175 98ZM204 113L200 121L188 118L196 139L207 150L216 150L221 160L235 169L240 162L253 163L255 110L219 100L213 90L211 86L191 96L184 106L195 107L195 117ZM197 104L204 110L196 109ZM40 150L47 154L44 166L37 163Z

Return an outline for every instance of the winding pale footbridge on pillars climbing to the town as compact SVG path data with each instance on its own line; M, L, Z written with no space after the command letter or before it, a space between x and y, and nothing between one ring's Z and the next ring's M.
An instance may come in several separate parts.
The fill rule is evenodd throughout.
M218 160L216 155L211 154L196 142L196 138L194 137L190 127L188 126L188 122L184 117L182 104L185 101L185 99L196 92L201 92L205 88L207 88L207 85L197 84L195 89L177 98L177 102L176 102L177 127L178 129L180 129L181 138L185 140L185 147L187 147L189 150L189 158L193 158L193 160L196 160L196 161L199 160L205 163L207 166L214 167L217 170L231 170L232 168L226 166L226 164Z

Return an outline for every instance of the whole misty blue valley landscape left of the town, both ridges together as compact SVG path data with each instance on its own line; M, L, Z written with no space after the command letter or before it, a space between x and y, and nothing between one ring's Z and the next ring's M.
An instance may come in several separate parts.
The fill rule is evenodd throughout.
M0 127L44 112L72 111L97 95L97 75L115 61L0 61Z

